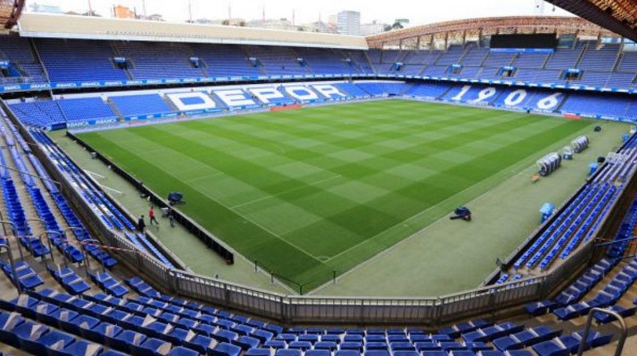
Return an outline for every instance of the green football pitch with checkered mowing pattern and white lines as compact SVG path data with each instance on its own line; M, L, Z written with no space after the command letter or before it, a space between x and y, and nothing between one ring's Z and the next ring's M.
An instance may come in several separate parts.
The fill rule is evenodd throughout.
M385 100L78 136L158 194L183 192L180 210L308 291L590 125Z

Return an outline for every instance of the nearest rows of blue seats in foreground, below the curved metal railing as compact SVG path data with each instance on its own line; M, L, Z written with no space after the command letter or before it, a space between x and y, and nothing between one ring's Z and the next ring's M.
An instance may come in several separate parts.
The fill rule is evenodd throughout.
M75 272L68 268L66 273ZM549 355L550 350L568 345L569 353L573 352L582 337L582 331L566 333L555 326L525 327L515 322L494 324L485 320L469 320L434 333L417 327L285 328L162 294L137 276L125 279L136 295L109 274L96 274L93 283L104 285L108 280L113 280L120 292L87 290L80 299L60 292L55 285L46 285L38 290L31 288L15 299L0 300L0 341L36 354L62 348L74 355L111 349L132 354L150 350L166 355L224 356L242 352L274 352L282 356L303 352L352 356L389 352L526 356L531 353L518 349L532 348L538 355ZM595 332L586 344L595 348L610 343L611 338L612 334Z

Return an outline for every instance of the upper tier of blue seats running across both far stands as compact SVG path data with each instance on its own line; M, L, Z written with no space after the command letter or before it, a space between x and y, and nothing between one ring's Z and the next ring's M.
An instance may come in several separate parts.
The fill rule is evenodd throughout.
M283 46L213 45L203 43L153 43L80 39L34 39L0 36L0 57L11 68L0 83L85 82L117 85L126 80L238 80L266 76L357 76L368 74L434 76L482 80L507 80L499 70L516 68L516 82L572 84L637 89L635 52L620 53L620 45L578 41L554 53L497 53L475 42L450 45L447 50L339 50ZM44 64L39 64L36 56ZM119 69L114 57L124 57ZM196 59L196 61L195 61ZM618 61L619 59L619 61ZM402 66L396 66L401 62ZM615 66L617 62L617 66ZM453 73L451 66L463 66ZM566 80L562 72L580 68L582 78ZM470 69L473 68L473 69ZM616 69L616 71L615 71ZM602 73L605 72L605 73Z

